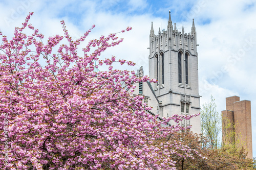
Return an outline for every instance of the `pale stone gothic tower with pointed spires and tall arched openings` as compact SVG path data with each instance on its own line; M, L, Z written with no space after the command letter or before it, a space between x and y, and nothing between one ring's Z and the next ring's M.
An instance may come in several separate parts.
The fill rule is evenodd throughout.
M193 19L190 33L184 33L172 23L169 11L167 30L154 34L150 31L149 76L158 83L152 88L159 101L160 117L172 114L196 114L200 112L198 88L197 32ZM171 123L172 124L172 123ZM200 116L183 120L182 126L192 125L191 130L200 133Z

